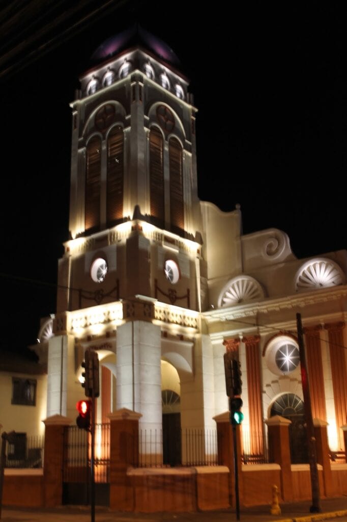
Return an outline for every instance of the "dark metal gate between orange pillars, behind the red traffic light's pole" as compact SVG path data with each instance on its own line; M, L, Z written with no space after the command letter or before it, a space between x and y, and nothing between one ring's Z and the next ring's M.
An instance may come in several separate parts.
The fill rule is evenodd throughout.
M109 505L109 423L95 425L95 504ZM78 426L64 430L63 504L90 504L91 436Z

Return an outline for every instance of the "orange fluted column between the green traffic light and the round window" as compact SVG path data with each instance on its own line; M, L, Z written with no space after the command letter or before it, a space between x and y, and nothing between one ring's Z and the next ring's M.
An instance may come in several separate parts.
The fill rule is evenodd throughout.
M260 363L260 336L244 337L246 347L246 370L248 387L248 406L250 416L251 453L263 453L263 414Z

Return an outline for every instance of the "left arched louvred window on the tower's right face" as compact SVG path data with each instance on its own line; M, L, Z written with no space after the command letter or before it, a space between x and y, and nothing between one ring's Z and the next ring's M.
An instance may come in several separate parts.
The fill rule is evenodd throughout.
M151 216L159 227L164 227L164 165L163 136L156 127L150 132L150 193Z

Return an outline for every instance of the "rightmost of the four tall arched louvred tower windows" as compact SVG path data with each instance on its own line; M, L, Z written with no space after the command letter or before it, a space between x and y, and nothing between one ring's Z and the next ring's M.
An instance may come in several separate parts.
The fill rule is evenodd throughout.
M169 165L170 165L170 222L172 232L184 229L183 206L183 163L182 147L178 139L169 141Z

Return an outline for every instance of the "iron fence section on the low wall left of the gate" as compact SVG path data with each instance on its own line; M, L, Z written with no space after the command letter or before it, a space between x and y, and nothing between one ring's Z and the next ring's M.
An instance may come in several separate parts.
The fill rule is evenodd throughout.
M6 446L6 468L42 468L44 437L14 433Z

